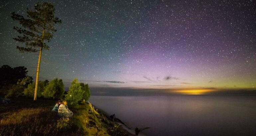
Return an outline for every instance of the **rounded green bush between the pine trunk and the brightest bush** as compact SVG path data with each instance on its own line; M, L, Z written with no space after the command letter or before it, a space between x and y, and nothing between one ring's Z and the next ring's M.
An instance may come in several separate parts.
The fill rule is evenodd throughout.
M64 84L62 79L55 78L46 87L42 95L45 98L62 99L64 95Z

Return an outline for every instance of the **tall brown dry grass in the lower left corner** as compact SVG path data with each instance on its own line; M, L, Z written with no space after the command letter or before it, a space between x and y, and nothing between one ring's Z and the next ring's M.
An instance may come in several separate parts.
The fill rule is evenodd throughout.
M0 136L65 135L56 127L58 116L47 107L9 111L0 118Z

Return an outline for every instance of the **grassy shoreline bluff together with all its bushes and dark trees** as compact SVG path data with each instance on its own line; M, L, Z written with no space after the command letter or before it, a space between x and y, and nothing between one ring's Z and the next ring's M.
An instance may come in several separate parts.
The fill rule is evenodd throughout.
M25 67L0 67L0 136L87 135L128 136L120 124L94 109L88 84L75 78L64 91L61 79L35 82ZM37 101L33 101L36 94ZM72 117L60 117L52 109L58 100L68 102Z

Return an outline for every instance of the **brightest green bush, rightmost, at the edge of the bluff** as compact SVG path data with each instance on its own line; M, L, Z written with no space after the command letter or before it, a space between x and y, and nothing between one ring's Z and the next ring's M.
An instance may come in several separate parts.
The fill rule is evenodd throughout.
M77 78L75 78L66 94L66 101L70 102L71 104L77 104L83 100L87 101L89 98L90 89L88 84L79 83Z

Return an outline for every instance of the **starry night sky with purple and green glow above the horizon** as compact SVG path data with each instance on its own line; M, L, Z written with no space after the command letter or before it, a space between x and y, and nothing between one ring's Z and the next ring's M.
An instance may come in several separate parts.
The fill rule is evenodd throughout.
M0 65L35 77L38 53L19 53L11 12L37 0L0 1ZM44 1L45 2L45 1ZM40 80L141 89L256 87L253 0L53 0L62 24L43 50ZM35 78L34 78L35 79Z

